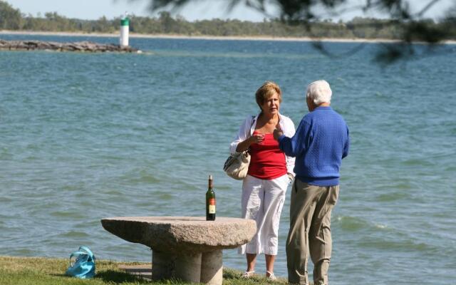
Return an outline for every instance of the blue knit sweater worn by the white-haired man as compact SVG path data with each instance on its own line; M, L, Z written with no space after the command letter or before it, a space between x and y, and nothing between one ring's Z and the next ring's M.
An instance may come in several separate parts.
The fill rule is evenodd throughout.
M350 138L342 116L331 107L318 107L302 118L293 138L279 137L279 147L296 157L296 177L310 185L339 184L339 169L348 155Z

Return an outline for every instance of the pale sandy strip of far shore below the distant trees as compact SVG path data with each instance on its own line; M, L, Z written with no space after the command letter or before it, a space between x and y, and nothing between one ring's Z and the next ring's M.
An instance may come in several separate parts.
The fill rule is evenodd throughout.
M49 31L7 31L0 30L1 35L28 35L28 36L88 36L117 38L119 33L82 33L82 32L49 32ZM198 39L216 41L322 41L335 43L400 43L400 40L387 38L310 38L310 37L276 37L276 36L188 36L188 35L169 35L169 34L143 34L130 33L130 38L169 38L169 39ZM416 42L420 43L420 42ZM439 44L456 44L456 40L443 41Z

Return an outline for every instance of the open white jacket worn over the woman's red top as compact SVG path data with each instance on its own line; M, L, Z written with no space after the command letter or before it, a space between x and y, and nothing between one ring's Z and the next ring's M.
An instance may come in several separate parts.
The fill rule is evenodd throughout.
M236 148L239 142L243 142L244 140L247 140L247 138L251 137L252 134L254 133L255 127L257 126L257 120L258 116L249 116L244 120L244 123L242 123L241 128L239 128L239 133L237 134L237 137L234 138L233 142L231 145L229 145L229 152L231 153L237 153ZM293 138L295 129L294 129L294 123L293 121L286 117L285 115L281 115L279 113L279 125L282 131L284 132L284 135L288 138ZM289 157L285 155L286 159L286 172L291 173L294 176L294 157Z

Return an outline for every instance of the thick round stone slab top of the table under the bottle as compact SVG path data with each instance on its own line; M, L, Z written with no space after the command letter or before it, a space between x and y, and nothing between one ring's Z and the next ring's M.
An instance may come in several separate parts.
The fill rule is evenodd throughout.
M103 228L116 236L159 252L212 252L234 249L257 232L252 219L217 217L111 217Z

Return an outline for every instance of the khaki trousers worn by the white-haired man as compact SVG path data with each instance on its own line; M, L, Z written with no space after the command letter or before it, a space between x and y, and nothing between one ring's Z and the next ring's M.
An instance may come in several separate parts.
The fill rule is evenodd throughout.
M314 263L314 284L328 284L331 260L331 210L339 186L309 185L299 179L291 189L290 230L286 240L286 264L291 284L309 284L309 253Z

